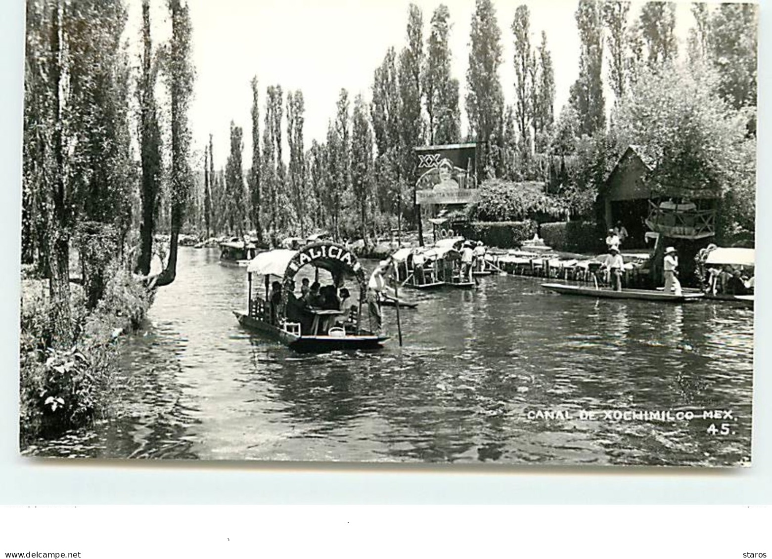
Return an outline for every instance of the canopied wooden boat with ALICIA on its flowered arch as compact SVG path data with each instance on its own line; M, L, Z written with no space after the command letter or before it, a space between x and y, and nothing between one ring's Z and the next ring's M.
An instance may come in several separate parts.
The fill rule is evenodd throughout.
M268 335L298 352L376 349L388 340L387 335L361 327L362 298L358 308L347 312L337 308L310 307L298 301L294 293L290 295L295 275L306 265L317 268L317 271L329 271L333 285L342 286L346 279L353 279L359 285L362 297L367 292L364 268L354 253L340 244L322 241L307 244L296 251L266 251L257 254L247 267L248 310L245 313L233 312L239 324ZM253 276L264 278L265 298L253 292ZM273 282L276 294L271 296L270 278L279 278L279 281Z

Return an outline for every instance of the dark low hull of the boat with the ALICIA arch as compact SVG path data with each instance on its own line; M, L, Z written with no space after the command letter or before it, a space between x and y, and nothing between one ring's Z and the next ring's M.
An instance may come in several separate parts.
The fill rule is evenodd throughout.
M257 318L244 315L241 312L233 311L233 314L239 320L239 324L242 325L243 328L265 334L270 338L282 342L289 347L289 349L293 349L296 352L323 353L337 350L378 349L383 345L383 342L388 340L388 336L386 335L374 334L299 336L286 332L267 322L262 322L262 320L258 320Z

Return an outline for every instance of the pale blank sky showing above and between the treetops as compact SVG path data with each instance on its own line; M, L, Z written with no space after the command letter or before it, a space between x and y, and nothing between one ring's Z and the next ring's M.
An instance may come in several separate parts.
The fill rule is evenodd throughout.
M430 32L432 12L442 0L413 0L422 9L424 41ZM192 61L196 69L195 93L189 113L193 149L202 150L212 133L215 167L224 167L229 152L229 126L244 129L245 166L251 161L252 76L259 80L260 126L264 119L266 87L301 89L305 101L304 140L323 141L327 122L334 118L341 88L353 104L357 93L369 101L374 69L387 49L399 52L406 43L408 6L411 0L188 0L193 26ZM461 84L463 109L469 57L469 26L474 0L444 0L452 23L450 48L452 73ZM547 32L547 45L555 67L555 116L568 99L577 79L580 42L574 19L577 0L493 0L503 45L499 67L506 103L514 101L513 35L515 8L530 8L531 44ZM168 39L170 23L165 0L151 0L156 44ZM130 0L127 32L139 36L141 0ZM639 5L633 5L636 14ZM692 25L689 4L679 3L676 14L680 52ZM605 72L604 72L605 79ZM607 92L607 99L611 97ZM610 103L607 103L610 105ZM286 136L286 123L283 124ZM284 138L286 142L286 137ZM286 152L288 150L284 150Z

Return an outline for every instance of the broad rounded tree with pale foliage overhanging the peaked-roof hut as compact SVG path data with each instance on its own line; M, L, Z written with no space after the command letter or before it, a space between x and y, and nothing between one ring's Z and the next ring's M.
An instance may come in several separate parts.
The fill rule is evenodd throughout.
M716 72L704 68L645 72L616 111L618 141L645 146L652 189L676 187L695 196L708 190L724 197L726 216L753 231L747 208L754 207L756 142L747 136L746 111L716 95L718 83Z

